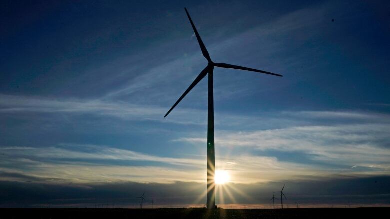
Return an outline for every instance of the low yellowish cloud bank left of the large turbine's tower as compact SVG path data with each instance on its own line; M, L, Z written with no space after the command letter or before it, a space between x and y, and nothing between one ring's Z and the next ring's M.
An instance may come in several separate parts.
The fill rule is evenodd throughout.
M0 152L2 171L63 182L203 180L203 177L196 178L199 172L203 171L202 160L147 155L107 146L62 144L44 148L1 147ZM145 161L146 163L115 164L112 161ZM13 179L14 176L8 178Z

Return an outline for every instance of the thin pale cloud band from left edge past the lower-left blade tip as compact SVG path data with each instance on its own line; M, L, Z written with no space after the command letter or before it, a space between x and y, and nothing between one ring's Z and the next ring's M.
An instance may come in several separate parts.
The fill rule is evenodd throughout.
M128 120L158 120L173 123L199 123L188 120L188 115L198 110L177 109L176 118L163 120L166 108L153 105L138 105L124 101L108 101L101 99L79 98L48 98L40 96L18 96L0 94L0 113L68 113L68 114L97 114L114 116ZM196 117L196 115L194 115ZM177 119L179 118L179 119Z

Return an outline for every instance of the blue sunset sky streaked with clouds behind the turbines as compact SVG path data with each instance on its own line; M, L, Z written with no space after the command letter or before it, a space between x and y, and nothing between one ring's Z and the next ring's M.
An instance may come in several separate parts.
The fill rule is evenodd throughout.
M390 204L387 1L3 1L0 206Z

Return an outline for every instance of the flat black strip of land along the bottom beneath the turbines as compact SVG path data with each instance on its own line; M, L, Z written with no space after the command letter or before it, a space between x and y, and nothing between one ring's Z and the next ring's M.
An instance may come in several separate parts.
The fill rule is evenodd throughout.
M0 219L316 219L373 218L386 216L390 208L299 208L299 209L0 209Z

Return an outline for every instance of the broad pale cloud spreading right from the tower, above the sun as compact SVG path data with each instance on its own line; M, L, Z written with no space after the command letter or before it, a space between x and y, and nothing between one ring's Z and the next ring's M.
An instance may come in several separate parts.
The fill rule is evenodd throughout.
M254 131L217 131L218 147L252 148L258 151L298 152L312 161L329 165L358 166L360 173L388 174L390 171L390 122L388 115L358 112L290 112L305 119L348 120L350 124L300 125ZM375 121L375 122L374 122ZM182 137L176 141L205 144L204 137ZM338 170L354 172L357 170Z

